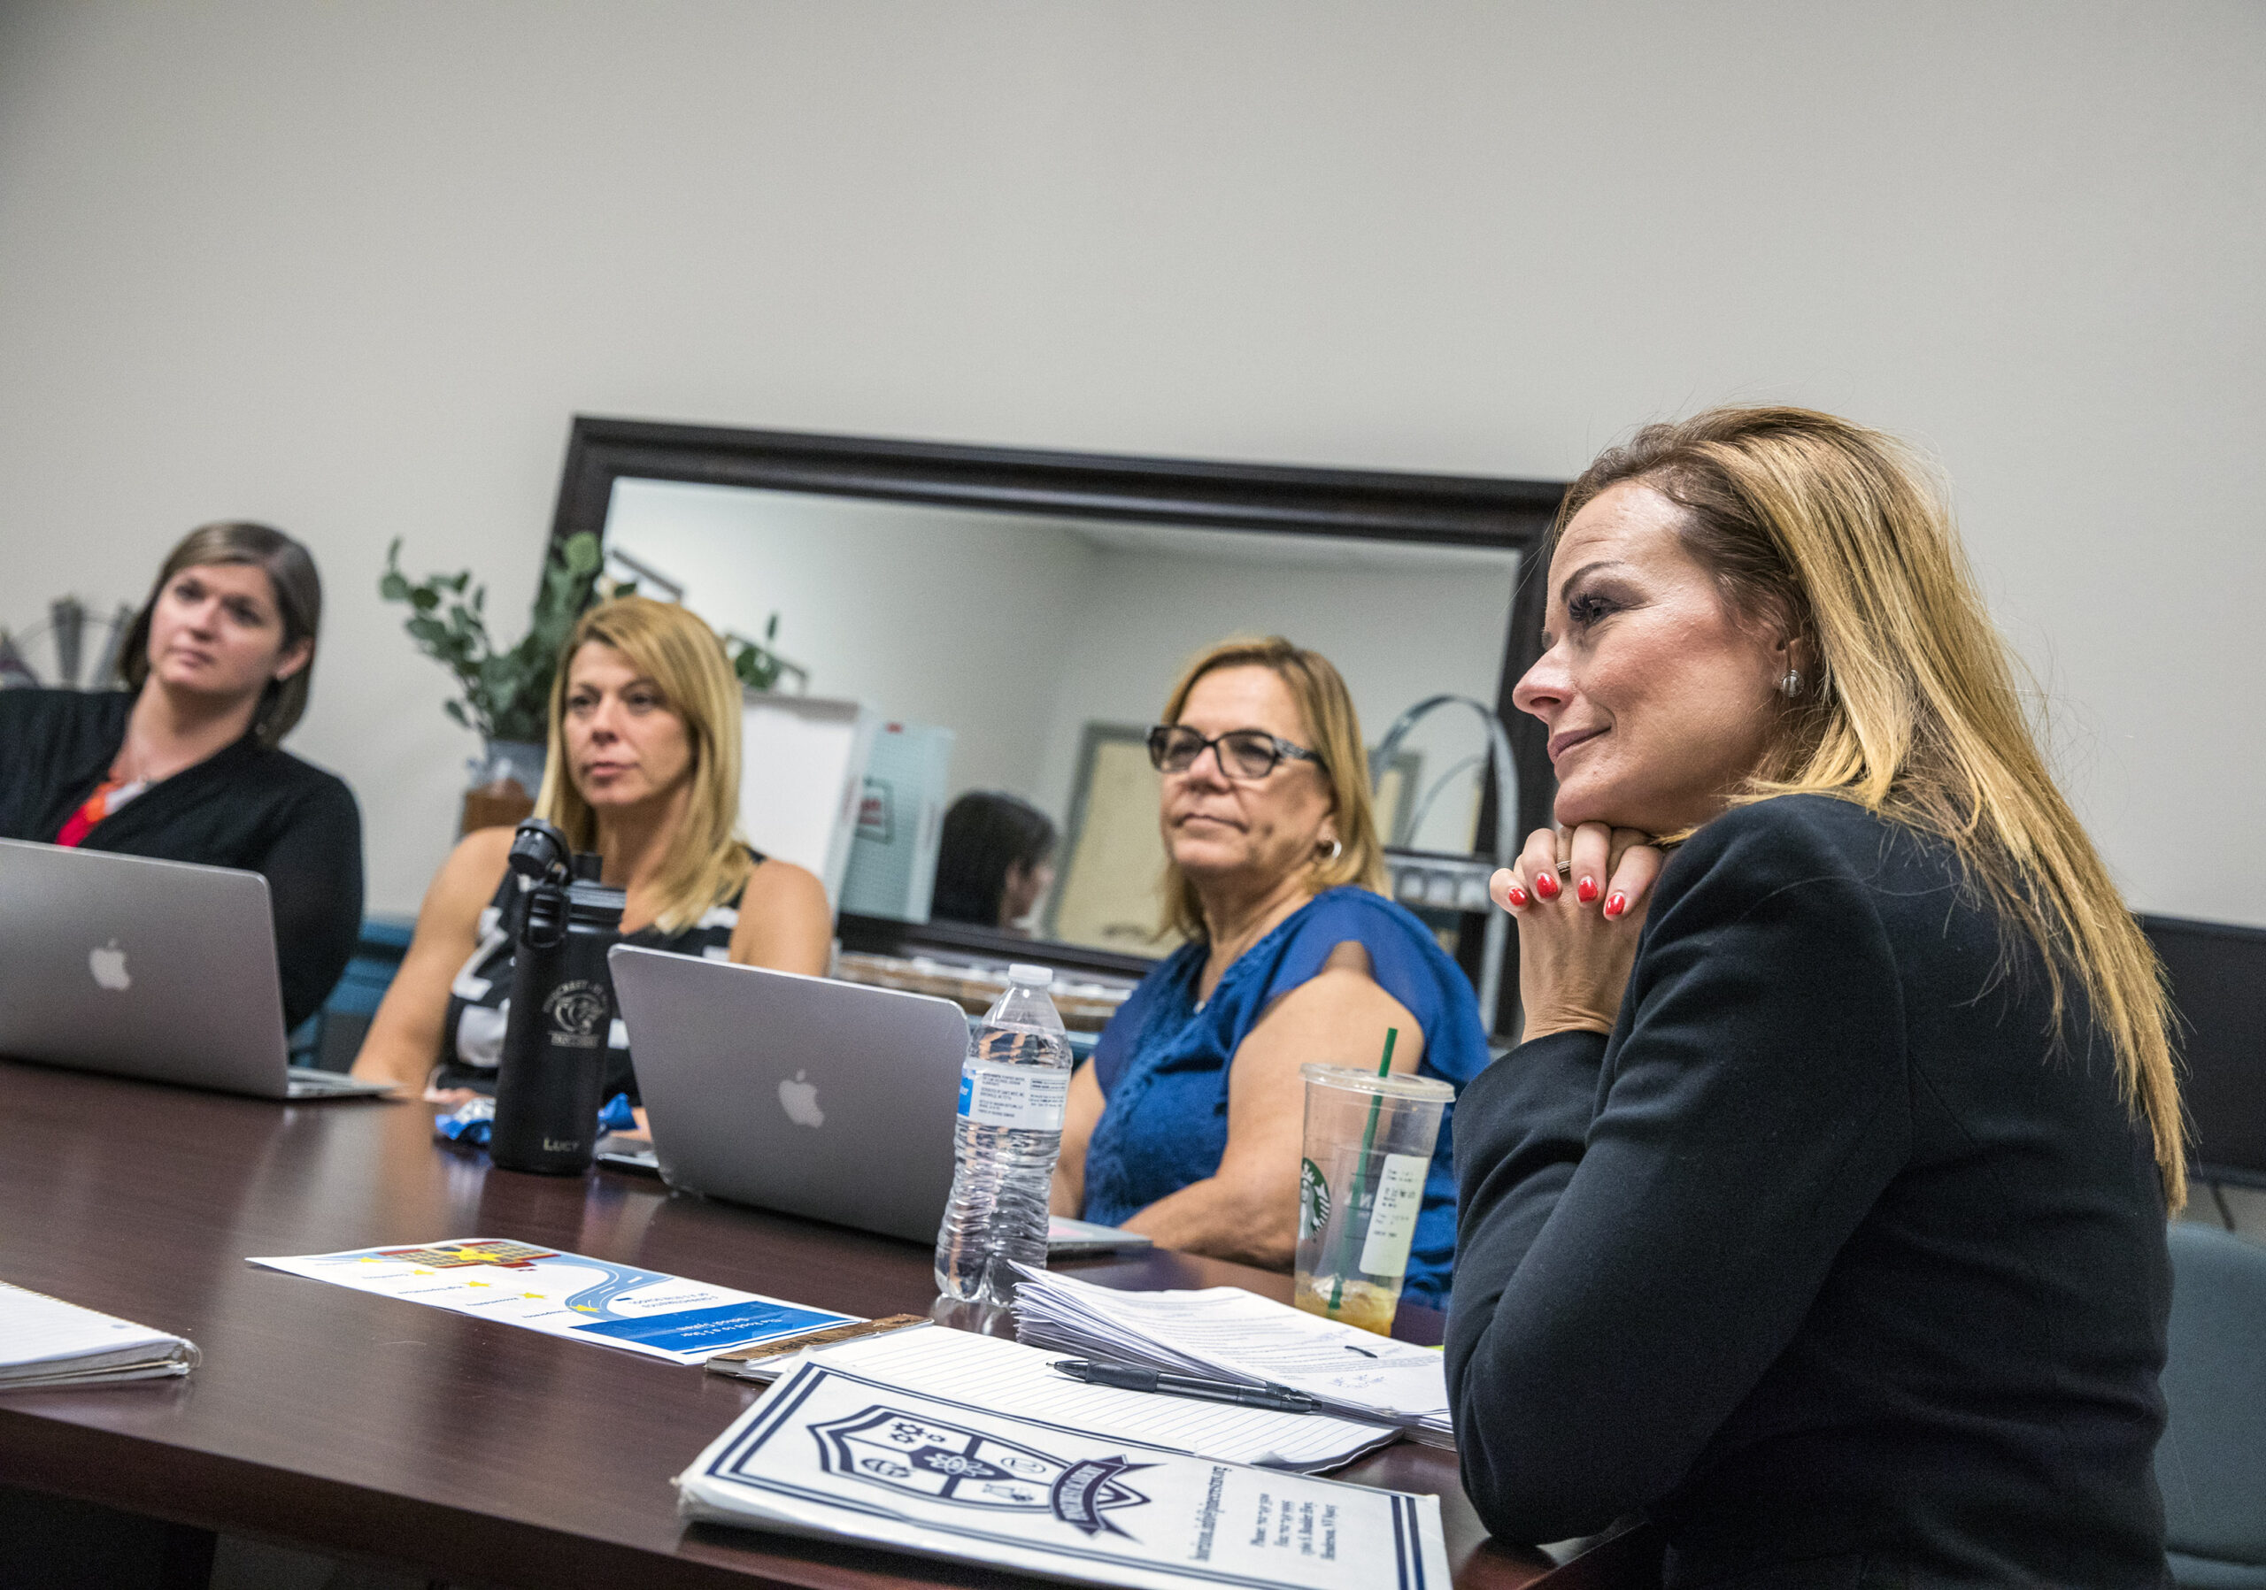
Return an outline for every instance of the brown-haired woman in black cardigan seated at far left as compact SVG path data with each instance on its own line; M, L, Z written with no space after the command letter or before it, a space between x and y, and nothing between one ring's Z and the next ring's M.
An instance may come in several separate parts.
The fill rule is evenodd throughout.
M261 872L286 1026L322 1008L363 924L353 793L276 750L306 711L320 621L304 546L211 523L120 646L129 689L0 691L0 838Z

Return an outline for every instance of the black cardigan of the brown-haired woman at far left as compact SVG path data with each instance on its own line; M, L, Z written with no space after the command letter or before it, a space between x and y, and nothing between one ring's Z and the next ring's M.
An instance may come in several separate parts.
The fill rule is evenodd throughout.
M118 756L125 691L0 691L0 838L54 843ZM82 849L245 867L267 879L283 1024L322 1008L363 931L353 790L249 734L97 822Z

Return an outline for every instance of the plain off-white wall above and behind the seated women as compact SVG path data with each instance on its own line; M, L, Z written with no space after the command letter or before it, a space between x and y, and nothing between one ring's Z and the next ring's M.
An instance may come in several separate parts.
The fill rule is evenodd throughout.
M2132 897L2266 922L2250 0L0 9L0 609L215 514L410 904L467 738L387 537L526 598L576 410L1566 476L1792 399L1956 487Z

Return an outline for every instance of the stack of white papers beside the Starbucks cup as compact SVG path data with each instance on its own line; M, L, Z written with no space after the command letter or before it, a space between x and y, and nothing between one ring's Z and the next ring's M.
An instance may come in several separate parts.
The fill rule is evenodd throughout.
M1301 1314L1242 1286L1115 1291L1015 1268L1015 1334L1033 1348L1240 1386L1289 1386L1337 1418L1455 1445L1448 1366L1430 1348Z

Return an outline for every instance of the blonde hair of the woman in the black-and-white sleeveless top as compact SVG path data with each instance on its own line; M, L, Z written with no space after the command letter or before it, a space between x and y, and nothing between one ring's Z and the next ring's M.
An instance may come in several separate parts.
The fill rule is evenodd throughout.
M619 596L576 621L551 679L551 759L535 815L555 822L576 849L596 849L598 818L566 766L566 675L573 655L612 646L668 700L693 745L691 800L655 879L653 924L682 933L712 906L734 899L755 863L739 834L739 677L723 641L696 614L650 596Z

